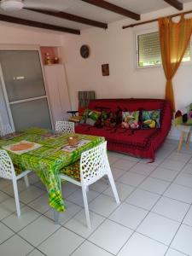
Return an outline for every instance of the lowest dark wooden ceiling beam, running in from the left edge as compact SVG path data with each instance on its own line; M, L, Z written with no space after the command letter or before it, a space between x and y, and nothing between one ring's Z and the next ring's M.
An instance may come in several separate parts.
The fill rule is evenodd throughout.
M33 21L33 20L20 19L20 18L8 16L8 15L0 15L0 20L6 21L9 23L20 24L23 26L33 26L33 27L53 30L53 31L57 31L57 32L67 32L67 33L80 35L80 31L77 29L68 28L68 27L64 27L64 26L50 25L47 23Z

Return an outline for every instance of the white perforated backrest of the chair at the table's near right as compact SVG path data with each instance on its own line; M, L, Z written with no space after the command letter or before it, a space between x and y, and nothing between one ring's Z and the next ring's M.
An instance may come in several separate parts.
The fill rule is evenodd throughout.
M110 170L107 154L107 142L90 148L81 154L80 177L85 185L95 183Z

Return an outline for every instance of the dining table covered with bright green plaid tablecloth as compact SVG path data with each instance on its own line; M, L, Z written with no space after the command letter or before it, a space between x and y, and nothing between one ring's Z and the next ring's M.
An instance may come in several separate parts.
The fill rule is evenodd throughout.
M79 138L79 143L70 146L69 138L74 135ZM49 206L56 212L64 212L67 207L61 194L61 169L104 140L104 137L32 127L0 137L0 148L7 150L14 166L35 172L48 191Z

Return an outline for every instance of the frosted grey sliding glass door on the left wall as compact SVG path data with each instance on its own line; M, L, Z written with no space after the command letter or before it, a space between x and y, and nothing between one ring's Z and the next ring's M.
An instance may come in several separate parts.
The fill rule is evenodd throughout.
M38 50L0 50L0 64L4 98L15 131L35 126L51 129Z

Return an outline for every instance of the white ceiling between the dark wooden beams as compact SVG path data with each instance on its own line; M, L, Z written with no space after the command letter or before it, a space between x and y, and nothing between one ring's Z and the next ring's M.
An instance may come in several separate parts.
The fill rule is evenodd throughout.
M192 0L179 1L182 3L192 2ZM170 5L163 0L108 0L108 2L116 4L122 8L129 9L140 15L170 7ZM98 8L80 0L24 0L24 3L26 7L65 11L72 15L79 15L90 20L97 20L105 23L124 20L126 18L123 15L115 14L106 9ZM52 25L66 26L80 30L90 27L70 20L42 15L25 9L14 13L5 13L3 10L0 10L0 13L3 15L11 15L28 20L37 20ZM132 21L134 22L135 20Z

